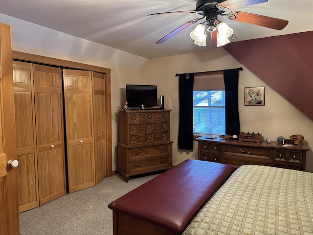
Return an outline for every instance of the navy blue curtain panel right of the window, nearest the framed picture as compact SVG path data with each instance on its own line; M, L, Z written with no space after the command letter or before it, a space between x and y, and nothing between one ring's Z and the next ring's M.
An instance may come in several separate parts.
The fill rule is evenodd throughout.
M238 82L239 70L224 70L225 83L225 134L238 135L240 133L238 111Z

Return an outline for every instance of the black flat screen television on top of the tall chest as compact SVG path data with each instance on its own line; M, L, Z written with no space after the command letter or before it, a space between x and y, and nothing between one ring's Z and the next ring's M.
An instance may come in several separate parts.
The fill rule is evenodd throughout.
M157 86L127 84L126 100L129 107L157 106Z

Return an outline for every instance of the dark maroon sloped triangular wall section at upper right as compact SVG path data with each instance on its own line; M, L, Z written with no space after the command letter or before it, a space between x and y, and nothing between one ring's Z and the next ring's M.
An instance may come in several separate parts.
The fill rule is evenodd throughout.
M233 42L224 49L313 119L313 31Z

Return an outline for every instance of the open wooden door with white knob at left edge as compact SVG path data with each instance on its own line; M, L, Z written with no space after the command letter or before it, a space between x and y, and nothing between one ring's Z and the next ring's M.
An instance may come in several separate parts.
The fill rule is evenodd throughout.
M19 235L11 28L0 23L0 234Z

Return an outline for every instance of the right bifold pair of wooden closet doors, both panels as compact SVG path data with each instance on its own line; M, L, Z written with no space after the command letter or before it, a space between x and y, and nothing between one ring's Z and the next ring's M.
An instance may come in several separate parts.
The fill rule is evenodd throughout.
M97 185L107 176L105 76L64 70L68 191Z

